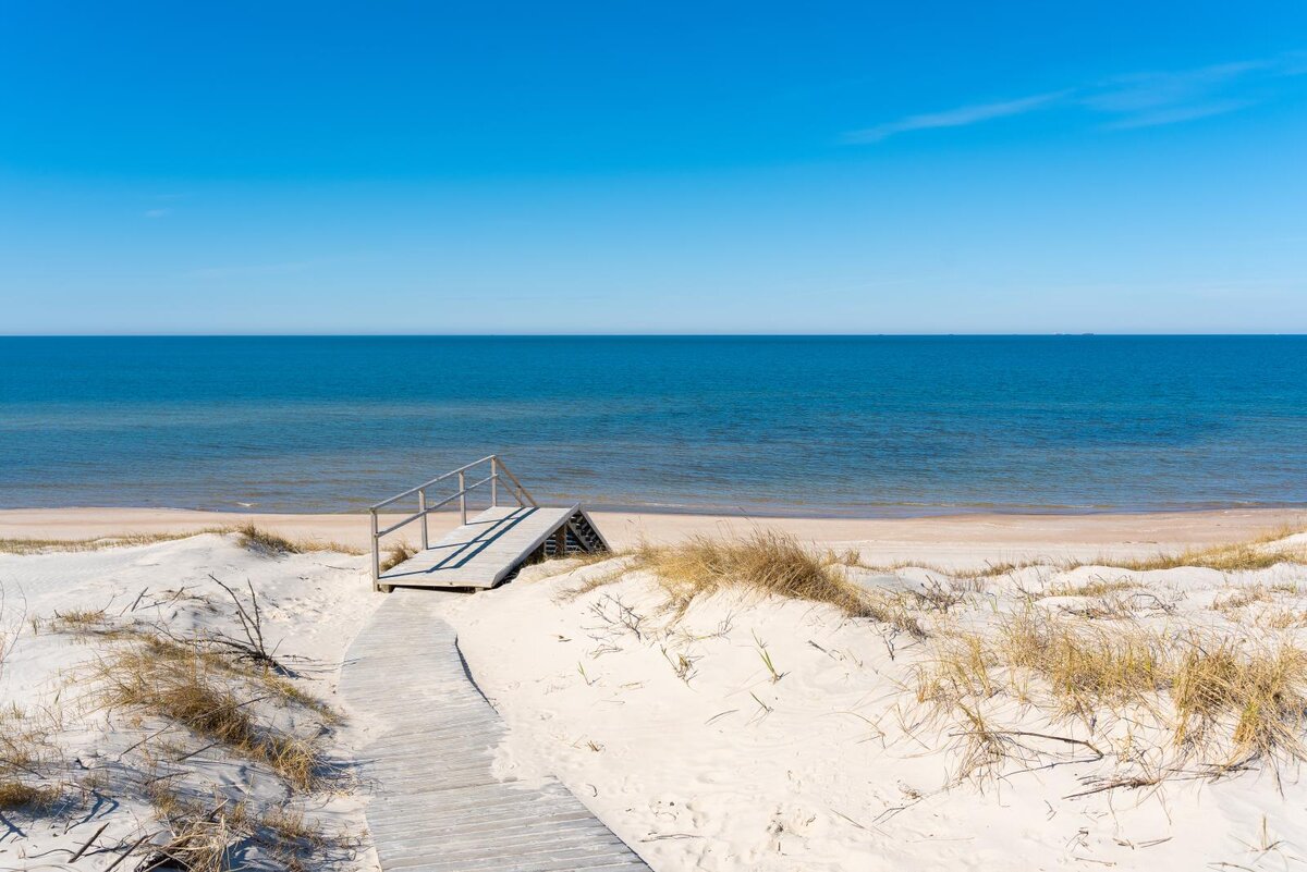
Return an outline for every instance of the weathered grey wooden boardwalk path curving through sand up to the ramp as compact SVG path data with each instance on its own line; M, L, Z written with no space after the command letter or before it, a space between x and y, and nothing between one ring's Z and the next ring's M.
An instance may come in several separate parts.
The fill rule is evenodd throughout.
M386 724L365 749L367 825L386 872L648 872L557 781L491 774L507 726L472 683L438 595L389 594L353 641L341 693Z

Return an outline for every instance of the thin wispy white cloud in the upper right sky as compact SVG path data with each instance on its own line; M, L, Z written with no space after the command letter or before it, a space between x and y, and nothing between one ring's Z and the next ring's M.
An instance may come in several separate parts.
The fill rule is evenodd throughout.
M1307 76L1304 52L1184 70L1129 73L1048 94L910 115L852 131L843 141L873 144L902 133L968 127L1055 107L1107 116L1102 127L1116 131L1179 124L1266 102L1277 95L1285 80L1299 76Z

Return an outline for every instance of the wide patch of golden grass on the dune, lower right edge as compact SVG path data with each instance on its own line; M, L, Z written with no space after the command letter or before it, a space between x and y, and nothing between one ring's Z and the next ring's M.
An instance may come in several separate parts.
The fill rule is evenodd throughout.
M1103 627L1039 608L936 642L916 698L967 726L1008 696L1076 718L1153 723L1180 758L1219 770L1249 760L1307 760L1307 653L1208 628ZM962 713L962 714L959 714Z

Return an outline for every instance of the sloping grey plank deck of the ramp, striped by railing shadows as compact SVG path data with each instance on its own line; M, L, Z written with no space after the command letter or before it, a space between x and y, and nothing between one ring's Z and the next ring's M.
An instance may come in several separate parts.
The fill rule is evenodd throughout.
M580 506L493 506L382 573L382 585L494 587Z

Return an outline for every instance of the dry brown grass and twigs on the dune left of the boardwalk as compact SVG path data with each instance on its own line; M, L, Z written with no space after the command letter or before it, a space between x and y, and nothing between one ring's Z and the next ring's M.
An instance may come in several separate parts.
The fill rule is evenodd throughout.
M247 868L242 858L251 846L273 864L269 868L336 868L357 850L357 839L327 834L285 804L288 796L298 804L323 790L349 787L328 756L328 727L340 715L293 681L294 672L264 647L254 587L246 598L214 582L230 597L226 606L244 628L243 638L220 627L180 636L165 621L103 610L67 610L33 621L38 632L69 633L95 646L97 657L77 674L82 702L88 711L105 710L124 721L141 739L120 755L122 766L97 773L107 781L91 787L89 778L72 777L52 787L29 777L42 769L33 762L35 751L22 760L8 751L18 743L0 718L0 757L21 764L13 773L21 778L0 771L0 808L50 813L64 796L61 787L142 799L163 829L142 847L139 868L227 872ZM191 602L201 614L214 615L223 600L200 593ZM22 747L39 749L31 741ZM285 792L273 804L243 796L239 787L184 762L200 752L257 764Z

